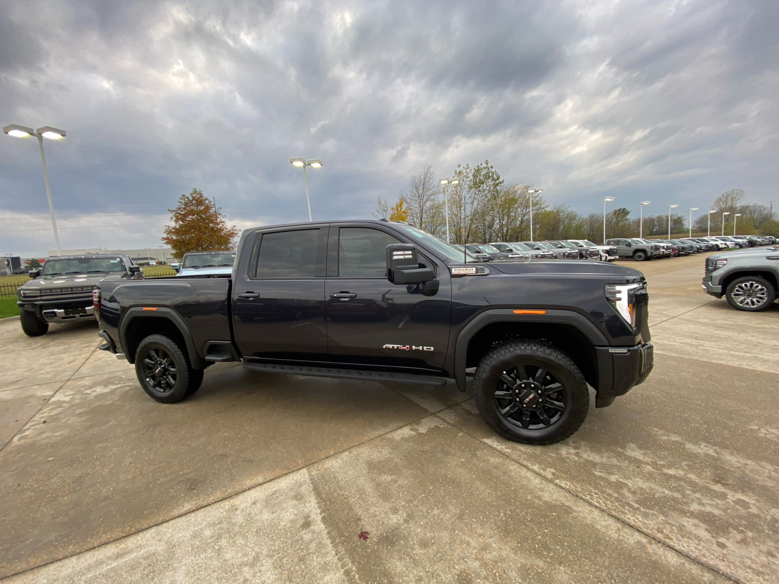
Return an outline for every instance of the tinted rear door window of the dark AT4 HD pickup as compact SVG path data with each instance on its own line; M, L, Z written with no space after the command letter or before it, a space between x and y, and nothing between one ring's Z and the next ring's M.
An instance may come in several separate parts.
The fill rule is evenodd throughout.
M256 277L294 280L316 276L319 229L263 234Z

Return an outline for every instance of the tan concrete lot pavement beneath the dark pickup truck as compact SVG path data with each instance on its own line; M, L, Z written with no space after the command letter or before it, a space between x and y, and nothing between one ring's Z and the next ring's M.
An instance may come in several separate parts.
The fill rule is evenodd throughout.
M779 304L707 296L703 258L626 262L655 369L545 447L453 385L217 364L164 405L96 325L0 321L0 577L777 582Z

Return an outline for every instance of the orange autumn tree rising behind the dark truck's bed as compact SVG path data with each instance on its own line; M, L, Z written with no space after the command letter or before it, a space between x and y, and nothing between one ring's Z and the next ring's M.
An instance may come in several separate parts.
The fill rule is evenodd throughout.
M175 257L182 258L187 252L234 248L238 227L227 227L220 209L199 188L180 196L178 206L167 210L172 213L174 224L165 227L162 241L171 246Z

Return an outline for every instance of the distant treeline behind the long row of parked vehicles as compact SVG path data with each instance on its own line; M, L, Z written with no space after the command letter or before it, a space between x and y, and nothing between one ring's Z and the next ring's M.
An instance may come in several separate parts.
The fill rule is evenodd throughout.
M390 220L404 220L416 227L446 238L446 200L449 203L449 235L453 243L486 243L488 241L527 241L530 239L530 204L533 206L533 238L536 241L558 239L589 239L603 241L603 215L583 216L565 203L549 205L543 192L534 191L534 185L506 185L488 160L471 168L458 164L452 178L457 185L441 185L430 165L422 167L409 181L407 191L401 191L397 201L379 199L374 216ZM744 191L734 189L714 199L710 209L711 233L722 229L725 215L725 234L733 233L733 219L737 234L770 234L779 237L779 223L763 205L747 205ZM708 209L703 209L708 210ZM638 237L639 217L631 217L630 209L618 207L606 213L606 237ZM707 215L693 220L694 231L707 231ZM671 214L671 234L689 230L688 217ZM668 234L668 214L643 217L644 237Z

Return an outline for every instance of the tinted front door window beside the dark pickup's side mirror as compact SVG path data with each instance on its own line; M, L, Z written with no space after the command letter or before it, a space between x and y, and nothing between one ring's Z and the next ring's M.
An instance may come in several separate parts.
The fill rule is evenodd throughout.
M402 243L378 229L341 227L338 237L338 275L342 278L386 277L386 247Z

